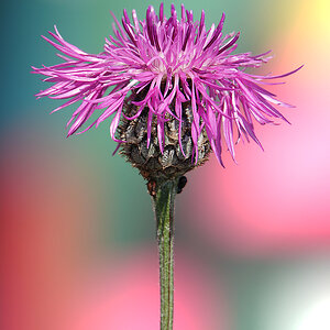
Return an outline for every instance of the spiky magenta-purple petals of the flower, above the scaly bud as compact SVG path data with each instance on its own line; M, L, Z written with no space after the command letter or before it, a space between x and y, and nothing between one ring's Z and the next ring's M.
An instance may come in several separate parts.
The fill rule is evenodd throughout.
M169 119L177 120L182 141L183 105L188 102L194 117L190 133L195 158L198 160L198 138L205 130L222 164L222 140L234 157L234 128L238 138L244 136L249 141L250 136L260 144L254 134L253 119L261 124L273 122L272 118L285 120L274 105L289 105L278 101L260 85L270 84L266 79L285 77L296 70L282 76L245 73L245 68L258 67L267 62L270 57L265 56L268 52L257 56L251 53L233 55L239 33L222 34L224 14L219 24L212 24L208 31L205 12L195 22L193 12L186 11L184 6L180 19L174 6L167 19L163 3L158 15L153 7L148 7L143 21L138 20L134 10L132 21L124 10L122 25L114 15L113 19L116 37L106 38L105 51L97 55L87 54L66 42L56 28L55 33L50 34L57 43L43 36L64 54L58 56L65 62L33 68L34 73L48 76L45 81L55 82L36 96L69 99L54 111L82 101L68 122L68 135L77 132L97 111L97 120L82 132L113 116L111 138L124 143L116 138L121 118L134 120L147 109L147 144L153 118L156 118L160 148L163 152L164 123ZM142 100L141 97L139 101L130 99L130 96L139 94L143 96ZM139 109L132 118L128 118L123 111L128 100Z

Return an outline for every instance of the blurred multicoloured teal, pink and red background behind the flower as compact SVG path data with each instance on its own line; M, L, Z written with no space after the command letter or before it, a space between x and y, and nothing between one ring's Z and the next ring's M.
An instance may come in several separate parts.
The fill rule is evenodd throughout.
M180 2L174 1L177 9ZM175 329L330 329L328 0L186 0L208 26L226 12L239 52L273 50L257 73L292 125L257 128L265 152L238 145L235 165L211 156L176 201ZM112 10L132 0L6 1L1 8L1 330L158 328L155 222L145 184L119 155L109 125L65 139L74 108L35 100L30 66L59 62L41 38L56 24L102 51ZM165 1L166 13L170 2Z

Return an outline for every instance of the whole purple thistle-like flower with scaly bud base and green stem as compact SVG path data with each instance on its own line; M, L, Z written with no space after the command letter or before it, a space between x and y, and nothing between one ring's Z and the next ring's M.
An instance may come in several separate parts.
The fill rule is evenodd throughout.
M239 139L260 142L253 122L286 119L278 101L263 88L280 76L246 73L271 57L233 54L239 33L222 34L224 14L207 31L205 13L194 21L182 6L166 19L163 4L146 18L132 21L124 10L122 24L113 15L114 36L105 51L87 54L66 42L57 29L44 37L61 53L64 63L34 68L55 82L37 97L68 99L55 109L80 102L67 125L68 135L82 133L111 119L110 135L129 162L147 179L157 222L161 282L161 330L173 329L174 200L187 179L186 172L202 164L211 151L222 164L222 148L234 158ZM53 112L54 112L53 111ZM87 123L91 116L96 120ZM86 127L85 127L86 124ZM79 130L79 132L78 132ZM117 150L118 150L117 148Z

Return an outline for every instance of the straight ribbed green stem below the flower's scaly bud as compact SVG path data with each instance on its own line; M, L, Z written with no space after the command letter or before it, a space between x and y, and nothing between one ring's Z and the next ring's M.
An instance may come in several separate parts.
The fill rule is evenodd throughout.
M154 196L161 282L161 330L173 329L174 199L177 180L162 182Z

